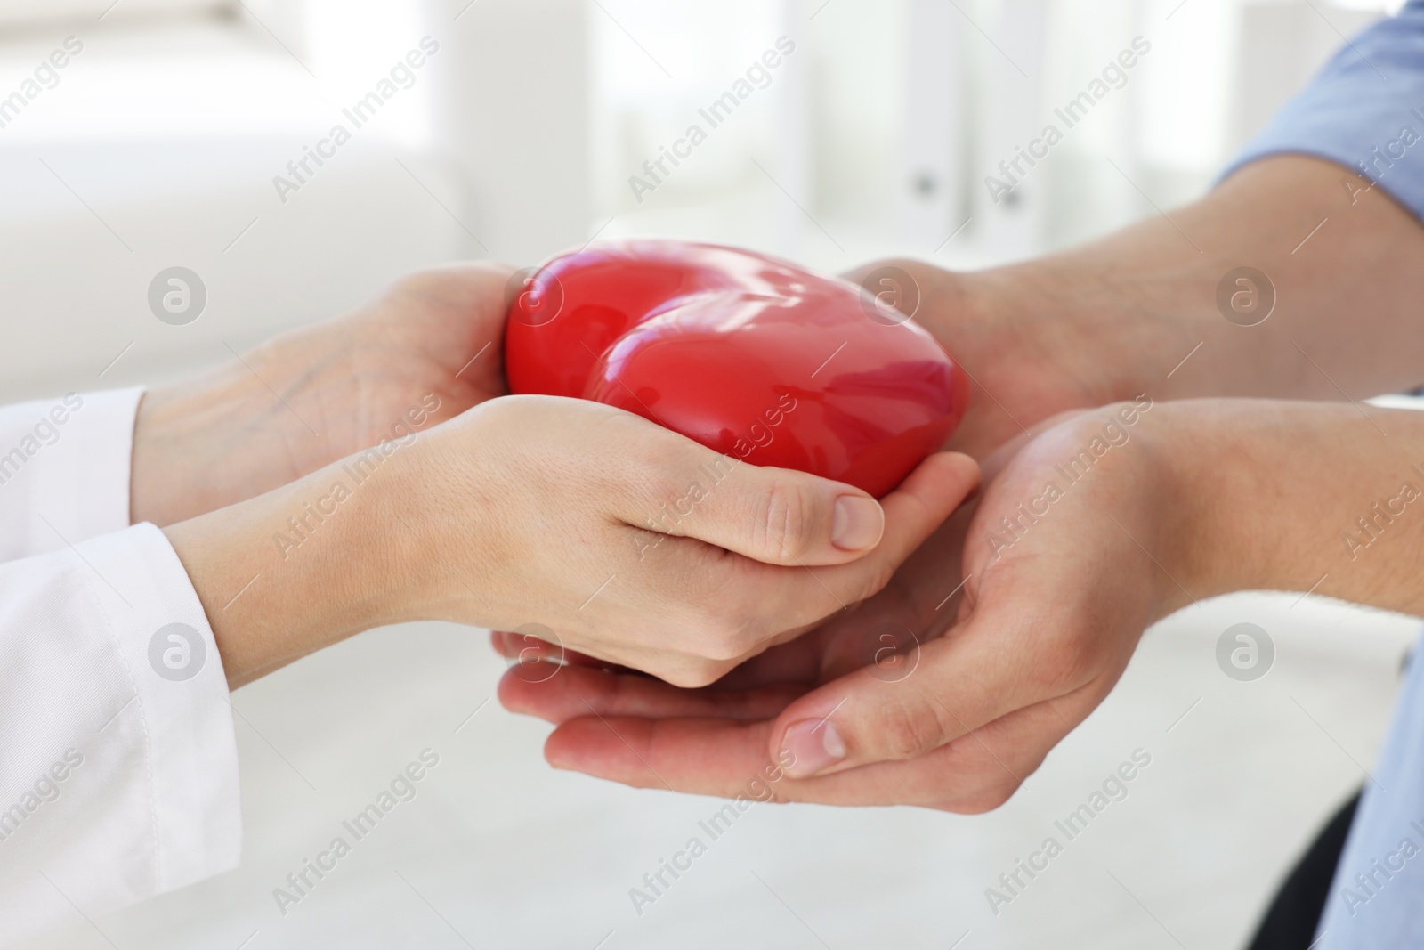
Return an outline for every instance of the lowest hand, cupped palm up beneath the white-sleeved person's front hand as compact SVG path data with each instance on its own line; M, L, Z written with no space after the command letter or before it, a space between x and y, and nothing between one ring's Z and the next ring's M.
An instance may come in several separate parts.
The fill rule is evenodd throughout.
M500 698L558 725L551 763L628 785L732 796L782 758L795 761L785 800L997 808L1111 691L1142 630L1185 601L1158 567L1190 577L1165 530L1163 409L1047 514L1021 516L1124 409L1007 446L980 500L886 590L706 689L575 664L544 682L507 675Z

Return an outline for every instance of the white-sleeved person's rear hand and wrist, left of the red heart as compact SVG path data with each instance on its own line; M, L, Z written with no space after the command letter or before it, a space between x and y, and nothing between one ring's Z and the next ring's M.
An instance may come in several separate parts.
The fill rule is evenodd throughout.
M375 303L144 395L131 520L172 524L451 419L504 387L510 269L403 278Z

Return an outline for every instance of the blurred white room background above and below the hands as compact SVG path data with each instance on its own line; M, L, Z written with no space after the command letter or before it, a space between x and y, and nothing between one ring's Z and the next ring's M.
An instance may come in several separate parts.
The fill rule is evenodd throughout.
M533 263L595 235L736 242L827 271L1030 256L1203 192L1390 6L0 0L0 97L83 43L53 88L0 113L0 397L162 382L413 268ZM273 177L350 128L342 110L426 36L439 51L409 88L283 201ZM780 37L792 53L712 128L699 110ZM1122 88L994 202L985 177L1135 37L1151 51ZM706 140L654 182L644 164L692 124ZM175 265L208 291L187 326L147 303ZM1215 665L1239 621L1277 640L1259 682ZM239 870L75 912L31 946L1239 946L1364 781L1415 630L1296 598L1193 608L1149 634L1000 812L758 808L642 917L628 889L716 803L551 772L540 724L494 702L466 721L500 668L481 634L379 631L235 695ZM426 746L441 765L420 798L282 916L272 889ZM1153 765L1129 799L991 914L984 889L1139 746Z

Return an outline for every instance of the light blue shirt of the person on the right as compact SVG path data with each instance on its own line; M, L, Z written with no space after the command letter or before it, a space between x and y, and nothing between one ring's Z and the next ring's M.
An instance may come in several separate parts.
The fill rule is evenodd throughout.
M1344 165L1424 221L1424 0L1341 47L1226 174L1283 152ZM1424 640L1316 936L1320 950L1424 947Z

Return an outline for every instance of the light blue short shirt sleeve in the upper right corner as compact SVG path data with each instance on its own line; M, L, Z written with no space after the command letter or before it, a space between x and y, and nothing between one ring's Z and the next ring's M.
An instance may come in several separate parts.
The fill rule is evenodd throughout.
M1344 165L1424 221L1424 0L1349 40L1223 177L1282 152Z

